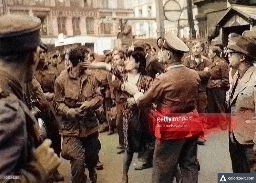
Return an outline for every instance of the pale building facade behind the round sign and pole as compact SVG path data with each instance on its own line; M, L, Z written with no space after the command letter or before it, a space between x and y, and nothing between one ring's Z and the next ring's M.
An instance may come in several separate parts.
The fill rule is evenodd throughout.
M127 0L129 1L129 0ZM130 0L132 3L128 6L134 9L135 17L156 17L156 6L155 0ZM181 17L180 17L180 26L179 26L179 35L180 38L189 38L190 37L190 28L188 24L187 18L187 9L186 9L186 0L176 0L181 6ZM167 0L163 0L164 3ZM126 4L125 4L126 5ZM193 7L193 16L195 23L195 30L198 30L198 21L195 19L195 15L197 15L197 7ZM134 34L138 38L157 38L157 26L155 21L144 21L140 23L133 23ZM164 28L166 31L171 31L173 34L177 35L178 32L178 22L170 22L168 20L164 20Z

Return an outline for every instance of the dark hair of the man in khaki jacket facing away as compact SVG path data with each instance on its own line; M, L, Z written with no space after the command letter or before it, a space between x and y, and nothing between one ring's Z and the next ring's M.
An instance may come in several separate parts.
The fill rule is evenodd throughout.
M73 66L77 66L79 62L84 61L85 53L89 53L87 47L79 46L77 48L71 49L69 53L69 60Z

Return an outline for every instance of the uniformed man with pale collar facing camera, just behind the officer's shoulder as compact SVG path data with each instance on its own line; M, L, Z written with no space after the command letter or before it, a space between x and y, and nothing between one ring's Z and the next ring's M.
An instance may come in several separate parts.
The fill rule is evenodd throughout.
M205 121L205 111L206 111L206 87L208 80L211 76L209 72L209 62L208 58L202 55L202 45L200 41L194 41L192 43L191 55L185 57L183 64L184 66L194 69L201 79L201 85L198 90L198 96L196 100L196 109L200 113L202 121ZM202 134L198 139L197 143L203 145L205 142L204 135Z

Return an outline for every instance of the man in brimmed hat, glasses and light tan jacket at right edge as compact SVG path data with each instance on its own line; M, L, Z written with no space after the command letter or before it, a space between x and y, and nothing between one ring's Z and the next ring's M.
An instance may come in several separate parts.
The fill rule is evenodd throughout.
M231 109L229 152L236 173L255 172L256 41L241 36L227 45L229 66L238 70L228 91Z

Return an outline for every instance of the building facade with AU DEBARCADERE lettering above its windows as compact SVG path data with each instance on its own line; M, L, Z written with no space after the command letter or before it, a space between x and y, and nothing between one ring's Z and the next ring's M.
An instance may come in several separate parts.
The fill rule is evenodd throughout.
M123 0L2 0L7 13L25 13L41 19L43 38L66 36L116 36L118 22L105 17L133 16ZM3 3L0 4L3 10ZM3 11L0 11L3 14ZM103 19L103 21L102 21Z

